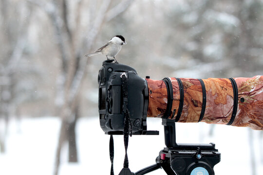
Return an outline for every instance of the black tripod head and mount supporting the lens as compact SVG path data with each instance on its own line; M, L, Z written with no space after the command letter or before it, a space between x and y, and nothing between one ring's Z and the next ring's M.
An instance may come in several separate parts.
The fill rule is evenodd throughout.
M213 167L220 162L221 154L214 143L176 143L174 120L163 119L165 147L159 152L156 164L139 170L134 175L145 175L163 168L167 175L214 175Z

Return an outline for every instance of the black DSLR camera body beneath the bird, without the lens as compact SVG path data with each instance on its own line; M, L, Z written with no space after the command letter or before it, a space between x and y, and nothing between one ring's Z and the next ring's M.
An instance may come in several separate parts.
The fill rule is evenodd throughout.
M124 128L123 90L121 75L128 82L128 110L133 134L153 134L147 131L148 86L133 68L106 60L98 74L99 120L106 134L122 135Z

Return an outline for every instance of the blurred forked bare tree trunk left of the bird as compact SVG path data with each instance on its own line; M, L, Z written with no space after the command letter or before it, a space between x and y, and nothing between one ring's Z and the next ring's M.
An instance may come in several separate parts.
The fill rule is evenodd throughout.
M61 117L61 127L59 131L59 140L56 148L56 163L54 175L58 175L59 165L60 165L60 152L61 148L65 143L69 144L69 161L77 161L77 150L76 150L76 140L75 140L75 124L78 119L78 93L83 81L84 73L87 65L87 58L81 56L81 48L83 45L89 51L95 41L96 36L98 35L105 18L109 15L108 20L118 16L120 13L124 12L126 8L131 4L132 0L121 1L113 9L110 10L109 14L107 11L110 7L111 0L104 0L100 5L98 12L94 18L94 21L90 23L91 29L87 31L89 38L85 36L78 39L75 38L78 36L78 29L71 29L69 27L68 15L69 9L67 0L53 0L49 3L49 6L54 8L47 8L47 5L42 2L35 0L28 0L30 3L38 5L39 7L44 7L44 10L50 17L52 25L54 26L54 35L57 40L58 50L60 52L62 64L62 81L60 87L62 90L62 101L63 105L61 106L59 116ZM78 2L80 5L81 1ZM80 7L80 6L79 6ZM93 8L93 7L91 7ZM52 9L52 10L51 10ZM78 8L80 10L80 8ZM86 10L86 9L85 9ZM80 13L76 12L76 19L79 21ZM75 43L79 41L79 43ZM78 46L78 51L75 46Z

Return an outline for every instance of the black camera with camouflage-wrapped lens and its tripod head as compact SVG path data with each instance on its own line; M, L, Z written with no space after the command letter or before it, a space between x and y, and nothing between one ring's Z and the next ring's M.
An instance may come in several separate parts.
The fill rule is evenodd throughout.
M139 77L127 65L107 60L99 70L98 84L99 120L105 134L123 134L125 138L129 130L130 135L158 135L158 131L147 130L147 118L162 119L166 147L159 152L156 164L132 175L144 175L158 168L168 175L214 175L213 167L221 157L215 144L176 143L176 122L263 130L262 75L152 80L150 76ZM127 147L128 141L126 152Z

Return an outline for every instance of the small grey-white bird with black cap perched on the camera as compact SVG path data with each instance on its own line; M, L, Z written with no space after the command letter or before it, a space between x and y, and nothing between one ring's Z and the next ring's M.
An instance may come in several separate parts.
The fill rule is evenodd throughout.
M86 54L85 56L91 57L97 54L103 54L106 55L107 60L109 60L109 57L113 57L116 63L118 63L115 56L120 52L121 47L124 44L127 44L125 38L122 35L116 35L113 36L113 38L104 46L102 46L93 53Z

